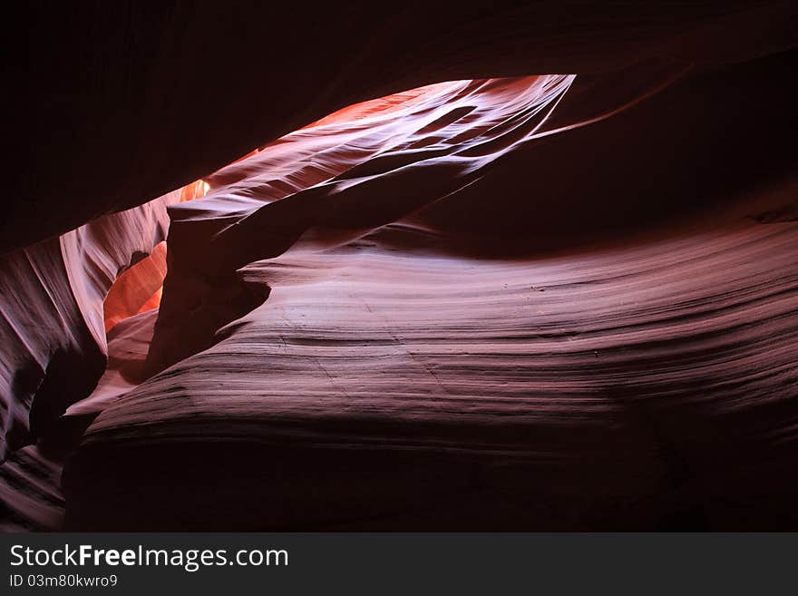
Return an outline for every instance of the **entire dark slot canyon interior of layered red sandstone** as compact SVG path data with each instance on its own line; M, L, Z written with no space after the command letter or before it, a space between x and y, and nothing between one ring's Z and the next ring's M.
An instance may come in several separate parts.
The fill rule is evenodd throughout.
M798 529L796 17L20 7L0 529Z

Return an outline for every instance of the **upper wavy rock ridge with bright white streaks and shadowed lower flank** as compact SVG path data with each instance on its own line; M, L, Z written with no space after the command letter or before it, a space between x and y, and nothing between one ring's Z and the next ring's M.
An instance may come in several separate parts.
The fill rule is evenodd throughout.
M207 347L219 327L264 299L236 279L248 262L297 241L342 243L401 220L480 181L531 142L599 122L679 73L660 67L635 83L605 85L604 102L586 103L581 119L571 113L567 123L552 114L574 75L431 85L334 114L217 172L208 197L170 210L151 371ZM607 103L614 110L602 112Z

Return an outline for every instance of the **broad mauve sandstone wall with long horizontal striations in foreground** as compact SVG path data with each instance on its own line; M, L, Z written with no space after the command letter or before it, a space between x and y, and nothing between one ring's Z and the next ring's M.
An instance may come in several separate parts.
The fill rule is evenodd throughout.
M798 523L795 222L534 259L389 226L241 274L268 301L89 428L72 527Z

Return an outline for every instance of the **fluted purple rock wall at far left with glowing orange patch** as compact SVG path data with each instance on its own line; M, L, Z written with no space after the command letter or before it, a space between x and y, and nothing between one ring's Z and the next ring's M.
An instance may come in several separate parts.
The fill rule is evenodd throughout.
M35 442L92 392L106 366L109 323L144 308L161 286L167 206L207 190L199 181L0 258L0 458ZM120 274L125 283L114 287Z

